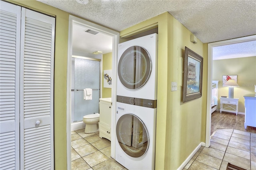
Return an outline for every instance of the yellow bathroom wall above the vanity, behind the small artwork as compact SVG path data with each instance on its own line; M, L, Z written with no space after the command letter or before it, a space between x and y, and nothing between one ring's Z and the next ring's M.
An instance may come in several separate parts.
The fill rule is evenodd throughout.
M104 88L104 70L111 70L112 69L112 53L106 53L102 56L102 98L111 97L111 89Z

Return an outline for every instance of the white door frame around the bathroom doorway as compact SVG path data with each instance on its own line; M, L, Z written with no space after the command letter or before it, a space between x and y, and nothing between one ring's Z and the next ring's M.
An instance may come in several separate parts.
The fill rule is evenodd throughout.
M117 79L117 48L120 38L120 33L110 30L103 26L88 22L81 18L70 15L68 24L68 61L67 61L67 115L66 115L66 132L67 132L67 169L71 169L71 64L72 64L72 26L73 23L82 24L92 30L96 30L102 34L112 36L112 113L111 113L111 157L115 158L115 141L116 126L115 126L115 113L116 113L116 79Z

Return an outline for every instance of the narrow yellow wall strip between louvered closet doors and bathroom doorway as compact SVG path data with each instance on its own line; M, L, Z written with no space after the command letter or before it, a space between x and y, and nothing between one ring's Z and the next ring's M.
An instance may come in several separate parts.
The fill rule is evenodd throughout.
M54 53L54 169L67 169L66 90L69 14L36 0L9 0L14 4L56 16Z

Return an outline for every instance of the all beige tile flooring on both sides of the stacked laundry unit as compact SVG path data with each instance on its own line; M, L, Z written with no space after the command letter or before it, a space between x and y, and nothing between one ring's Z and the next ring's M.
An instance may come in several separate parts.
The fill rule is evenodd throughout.
M110 141L99 132L71 132L72 170L127 170L110 157ZM226 170L228 162L256 170L256 134L235 129L217 129L211 146L201 147L184 170Z

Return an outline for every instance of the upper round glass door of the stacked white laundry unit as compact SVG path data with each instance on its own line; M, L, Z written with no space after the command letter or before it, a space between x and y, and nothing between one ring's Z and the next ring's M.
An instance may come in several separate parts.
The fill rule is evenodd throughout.
M118 62L118 77L128 89L142 87L150 77L152 62L146 49L132 46L124 51Z

